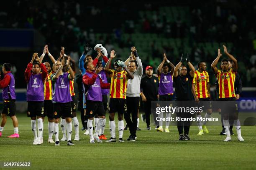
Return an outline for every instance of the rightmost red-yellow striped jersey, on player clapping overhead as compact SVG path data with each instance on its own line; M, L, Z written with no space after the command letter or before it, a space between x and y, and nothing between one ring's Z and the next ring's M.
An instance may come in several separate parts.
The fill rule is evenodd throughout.
M219 83L219 98L236 97L234 85L236 71L232 68L228 72L218 70L216 77Z

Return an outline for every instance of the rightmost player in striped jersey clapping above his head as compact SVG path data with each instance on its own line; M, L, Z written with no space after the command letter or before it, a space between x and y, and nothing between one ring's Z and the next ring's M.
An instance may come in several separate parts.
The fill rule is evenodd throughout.
M233 67L228 69L228 60L227 59L222 59L221 60L221 69L218 70L216 67L218 61L220 60L220 57L222 54L220 53L220 49L218 49L218 56L217 58L212 62L212 71L215 73L215 76L218 78L218 83L219 83L219 100L220 101L236 101L236 93L235 93L235 88L234 88L234 82L236 78L236 73L238 69L238 63L235 57L233 55L228 53L227 47L223 45L224 52L226 55L228 55L228 58L230 58L233 61ZM241 135L241 124L240 121L238 120L238 111L237 111L237 106L235 103L230 102L227 103L229 106L227 108L227 105L224 107L221 106L221 112L223 114L223 125L225 128L226 132L226 139L224 140L225 142L231 141L230 137L230 130L229 130L229 118L233 118L234 120L234 125L236 127L237 131L237 138L238 141L244 141Z

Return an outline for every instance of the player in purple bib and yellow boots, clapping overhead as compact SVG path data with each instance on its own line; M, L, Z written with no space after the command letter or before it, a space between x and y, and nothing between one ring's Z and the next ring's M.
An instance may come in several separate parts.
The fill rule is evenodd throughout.
M166 63L167 62L167 63ZM169 67L171 70L169 71ZM159 77L159 101L171 101L173 95L173 70L174 65L170 62L166 55L164 54L164 60L160 63L157 68L157 75ZM161 117L163 117L163 113L161 112ZM166 113L166 118L170 117L171 113ZM165 132L169 133L169 124L170 121L166 121ZM163 130L163 121L159 121L159 128L156 129L159 132L164 132Z

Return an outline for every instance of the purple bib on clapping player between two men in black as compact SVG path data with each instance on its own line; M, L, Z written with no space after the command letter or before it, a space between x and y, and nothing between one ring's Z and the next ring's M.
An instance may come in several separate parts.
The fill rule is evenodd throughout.
M173 94L172 83L173 81L172 81L171 72L168 72L167 74L164 74L162 72L159 79L158 94L159 95Z

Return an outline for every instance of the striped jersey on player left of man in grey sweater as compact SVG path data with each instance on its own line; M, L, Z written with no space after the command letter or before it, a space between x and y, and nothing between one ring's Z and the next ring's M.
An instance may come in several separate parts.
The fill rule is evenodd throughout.
M115 70L111 71L110 98L126 99L127 72L124 70L120 72L116 72Z

